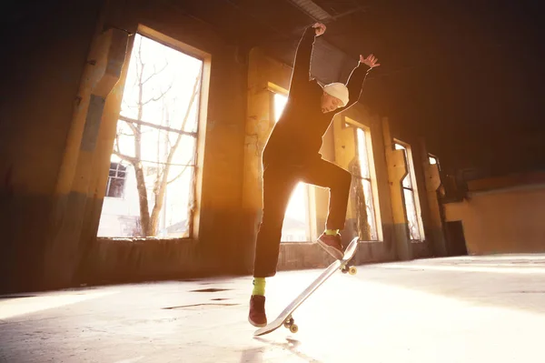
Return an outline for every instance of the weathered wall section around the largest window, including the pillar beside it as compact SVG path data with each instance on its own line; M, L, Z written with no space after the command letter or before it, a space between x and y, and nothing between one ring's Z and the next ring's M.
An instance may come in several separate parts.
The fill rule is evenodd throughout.
M2 97L0 123L0 266L9 277L0 290L64 287L93 279L105 268L104 251L120 249L119 244L109 246L111 241L97 243L96 229L132 47L128 33L138 25L212 57L201 130L206 144L199 153L195 237L200 243L198 251L183 246L192 241L153 248L125 243L121 248L131 253L114 252L106 259L131 256L134 265L153 249L155 262L142 266L142 273L154 276L151 271L161 269L162 258L181 248L176 261L181 274L195 261L210 274L240 271L247 79L240 50L171 5L110 1L104 7L70 3L47 10L36 14L35 22L21 23L10 41L13 49L5 49L14 53L9 58L13 64L5 68L11 72L3 90L11 91Z

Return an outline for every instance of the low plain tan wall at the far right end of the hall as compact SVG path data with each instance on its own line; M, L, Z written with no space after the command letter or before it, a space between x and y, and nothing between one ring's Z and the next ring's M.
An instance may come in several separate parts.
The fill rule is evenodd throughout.
M444 206L447 221L461 220L471 255L545 252L545 174L469 183L469 195Z

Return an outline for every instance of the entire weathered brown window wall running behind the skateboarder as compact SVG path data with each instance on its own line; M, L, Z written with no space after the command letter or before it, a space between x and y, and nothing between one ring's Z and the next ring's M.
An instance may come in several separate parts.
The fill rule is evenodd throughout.
M241 54L236 39L223 38L171 3L71 4L49 8L54 22L36 13L36 22L25 23L13 40L19 53L6 78L12 92L2 98L0 123L0 272L9 277L0 290L251 272L261 217L259 160L272 126L269 87L287 88L291 67L259 49ZM131 34L139 30L205 59L197 203L187 239L96 237ZM346 74L342 62L339 75ZM324 70L335 65L321 67L313 73L331 74ZM430 256L431 234L418 248L406 238L402 200L394 197L404 166L391 156L390 123L362 106L347 116L373 134L382 228L381 240L363 243L357 261ZM334 125L340 123L338 117ZM401 139L419 147L409 136ZM323 156L346 164L340 151L351 145L353 135L333 126L324 136ZM417 164L427 226L426 183ZM396 167L401 174L393 172ZM315 200L314 235L322 232L327 191L316 191ZM351 218L349 212L348 225ZM279 268L324 266L330 258L315 244L285 243Z

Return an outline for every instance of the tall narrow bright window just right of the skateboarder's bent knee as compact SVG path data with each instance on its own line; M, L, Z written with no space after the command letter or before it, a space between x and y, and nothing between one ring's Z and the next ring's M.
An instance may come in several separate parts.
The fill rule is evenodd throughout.
M373 187L374 170L372 170L371 136L369 135L368 130L364 130L360 127L356 130L360 180L362 183L363 196L365 197L369 237L374 241L379 239L379 233L377 228L377 214L375 211L375 188Z

